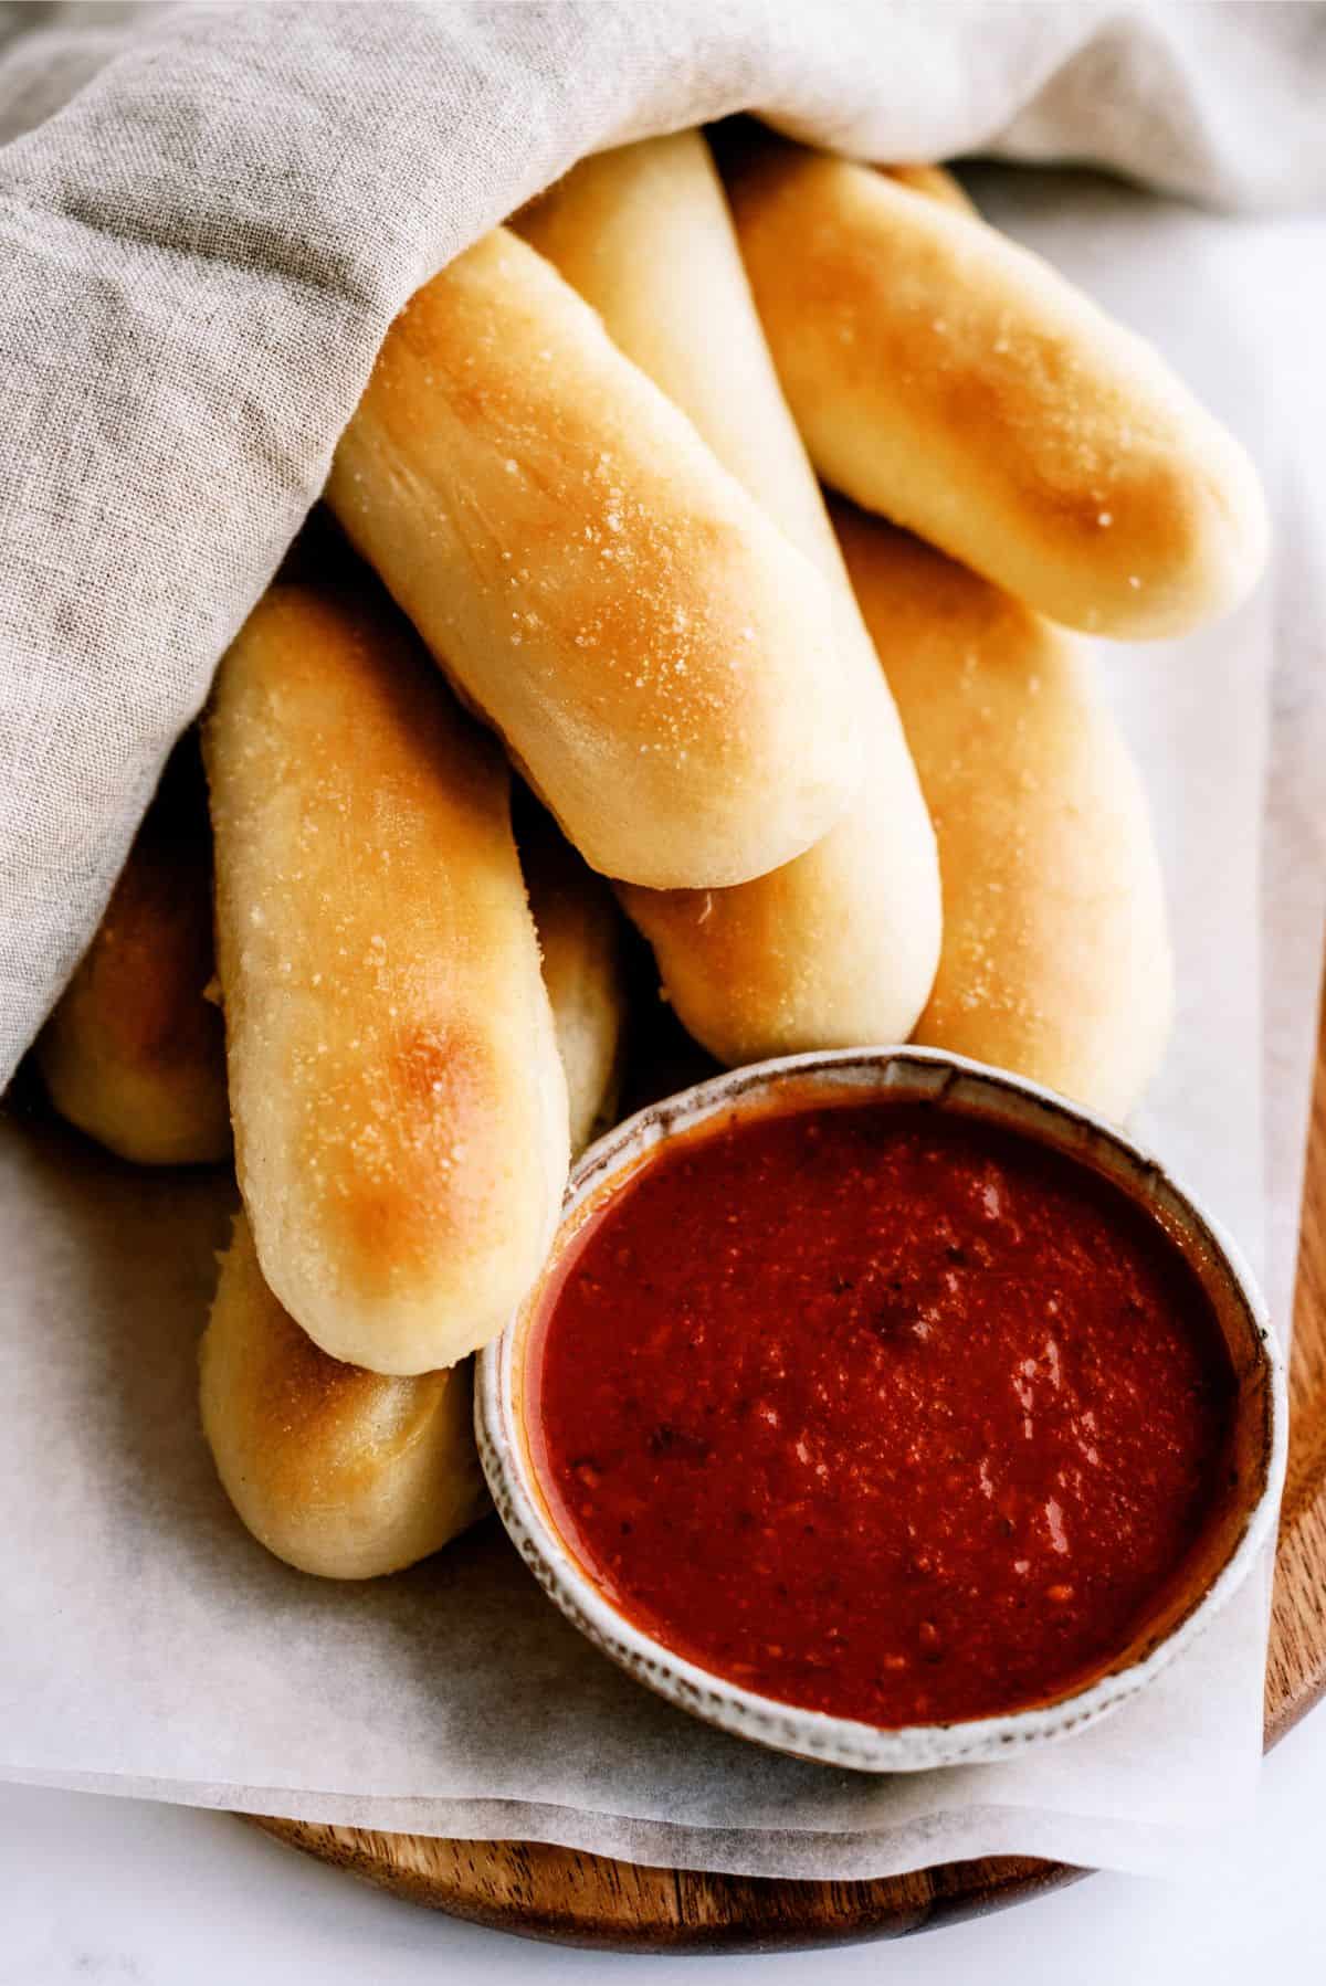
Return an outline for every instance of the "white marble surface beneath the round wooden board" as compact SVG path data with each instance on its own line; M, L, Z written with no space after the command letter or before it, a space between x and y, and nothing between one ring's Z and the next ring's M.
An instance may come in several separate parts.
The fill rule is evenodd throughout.
M815 1986L1310 1986L1326 1976L1326 1708L1266 1762L1256 1839L1201 1881L1091 1877L970 1924L817 1954ZM227 1815L0 1785L0 1986L801 1986L805 1954L571 1952L396 1903Z

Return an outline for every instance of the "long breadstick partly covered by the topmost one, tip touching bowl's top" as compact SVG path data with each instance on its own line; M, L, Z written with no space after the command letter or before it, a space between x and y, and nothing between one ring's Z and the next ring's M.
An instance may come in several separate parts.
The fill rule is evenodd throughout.
M901 1041L938 955L934 838L708 147L688 131L586 159L517 224L815 560L861 713L865 782L815 848L734 890L624 888L622 902L684 1025L720 1061Z

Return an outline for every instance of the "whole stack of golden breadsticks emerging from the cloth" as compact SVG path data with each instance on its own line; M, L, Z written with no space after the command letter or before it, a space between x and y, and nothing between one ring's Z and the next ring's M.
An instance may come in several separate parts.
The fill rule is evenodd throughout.
M306 1571L483 1509L467 1356L620 1074L602 878L726 1063L914 1039L1121 1118L1163 1047L1145 802L1066 630L1233 606L1256 477L946 175L744 125L720 165L588 159L412 298L326 485L364 568L258 602L211 848L183 763L38 1049L127 1158L233 1124L203 1426Z

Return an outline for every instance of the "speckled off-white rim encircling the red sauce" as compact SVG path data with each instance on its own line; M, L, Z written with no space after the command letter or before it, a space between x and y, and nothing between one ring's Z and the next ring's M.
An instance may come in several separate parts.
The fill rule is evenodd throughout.
M1133 1184L1119 1178L1123 1192L1155 1209L1165 1204L1169 1217L1179 1211L1189 1233L1195 1233L1211 1273L1197 1267L1207 1287L1223 1275L1227 1293L1237 1299L1248 1333L1252 1370L1244 1386L1260 1382L1266 1426L1260 1458L1264 1474L1260 1490L1243 1513L1243 1529L1233 1551L1209 1581L1205 1593L1177 1619L1145 1656L1085 1684L1077 1692L1030 1710L1014 1710L992 1718L972 1718L958 1724L909 1724L879 1730L853 1718L835 1718L819 1710L761 1696L755 1690L700 1668L674 1654L632 1621L616 1611L580 1569L567 1543L549 1521L541 1495L533 1488L525 1440L515 1428L513 1376L523 1350L525 1333L535 1315L549 1269L559 1257L573 1217L586 1200L610 1192L620 1176L634 1174L646 1154L658 1150L676 1132L690 1130L734 1104L753 1104L781 1084L835 1088L847 1086L865 1094L916 1096L960 1114L1012 1124L1024 1136L1056 1144L1046 1136L1046 1120L1060 1132L1060 1150L1076 1142L1083 1152L1105 1146L1111 1158L1131 1172ZM962 1112L962 1104L968 1110ZM972 1110L970 1106L976 1104ZM1028 1110L1030 1106L1030 1110ZM1028 1122L1028 1116L1032 1122ZM811 1055L787 1055L767 1063L751 1063L698 1082L676 1096L648 1104L616 1124L592 1144L571 1174L549 1263L507 1325L501 1339L489 1345L475 1372L475 1434L493 1503L517 1551L531 1567L549 1599L567 1615L594 1646L628 1670L638 1682L738 1738L789 1752L795 1758L843 1766L855 1772L928 1772L934 1766L982 1764L1008 1758L1012 1752L1048 1744L1083 1730L1147 1688L1191 1642L1209 1627L1215 1615L1243 1585L1256 1555L1270 1535L1276 1517L1284 1464L1288 1452L1288 1406L1284 1358L1268 1323L1264 1301L1248 1265L1223 1225L1203 1209L1201 1202L1149 1154L1137 1140L1093 1112L1068 1102L1054 1090L986 1068L966 1057L944 1055L938 1049L837 1049ZM1250 1482L1256 1482L1252 1472ZM1248 1486L1250 1493L1250 1486Z

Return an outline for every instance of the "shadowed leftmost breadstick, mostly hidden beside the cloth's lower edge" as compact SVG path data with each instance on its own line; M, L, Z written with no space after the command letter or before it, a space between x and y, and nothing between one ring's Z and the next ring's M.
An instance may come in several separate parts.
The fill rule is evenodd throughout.
M197 739L169 759L101 925L36 1045L60 1116L139 1166L227 1158L225 1033Z

